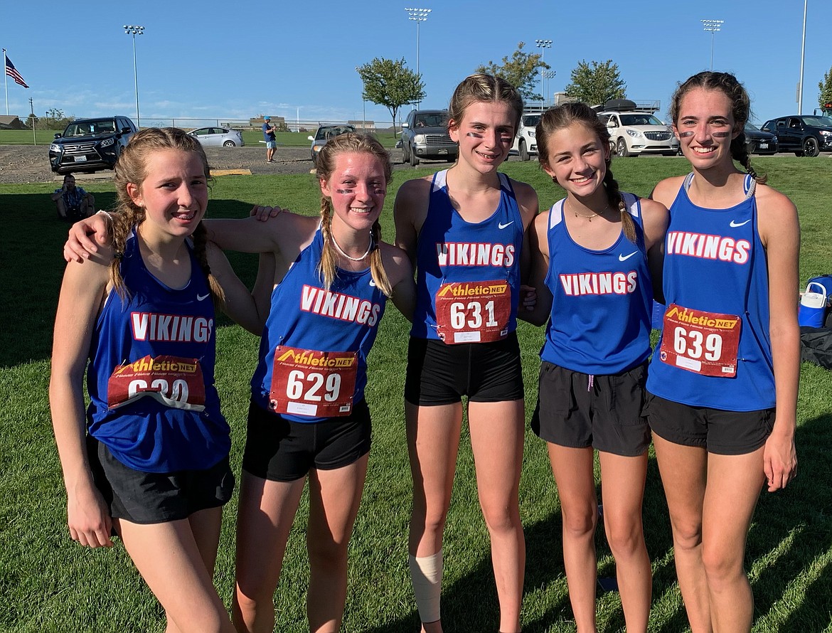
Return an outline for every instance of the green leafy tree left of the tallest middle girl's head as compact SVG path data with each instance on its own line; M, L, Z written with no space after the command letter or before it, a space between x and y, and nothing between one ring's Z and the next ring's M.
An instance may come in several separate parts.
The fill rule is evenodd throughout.
M422 76L405 67L404 58L392 60L376 57L355 70L364 84L364 99L390 111L395 135L399 108L407 103L418 103L424 98Z

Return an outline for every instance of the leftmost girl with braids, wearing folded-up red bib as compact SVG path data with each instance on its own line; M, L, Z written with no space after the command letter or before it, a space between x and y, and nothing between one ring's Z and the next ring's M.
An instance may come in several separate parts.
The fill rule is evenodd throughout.
M234 486L215 304L255 332L264 319L222 253L206 249L209 178L184 131L131 138L116 165L111 246L67 265L50 404L72 538L112 546L115 532L171 626L233 633L211 582Z

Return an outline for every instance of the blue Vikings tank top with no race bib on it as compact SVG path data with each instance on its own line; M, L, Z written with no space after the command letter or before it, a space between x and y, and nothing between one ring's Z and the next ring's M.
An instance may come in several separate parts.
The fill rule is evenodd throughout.
M622 193L636 225L636 243L623 231L606 250L590 250L569 235L563 202L549 211L552 314L540 356L581 373L620 373L650 357L653 291L647 268L641 204Z

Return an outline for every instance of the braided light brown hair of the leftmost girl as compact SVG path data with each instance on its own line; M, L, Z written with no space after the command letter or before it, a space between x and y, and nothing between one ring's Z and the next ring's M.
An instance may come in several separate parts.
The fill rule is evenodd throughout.
M163 150L195 152L202 162L206 181L210 181L210 167L200 141L178 127L148 127L136 132L131 137L130 142L116 161L113 181L116 184L116 194L118 195L116 210L119 213L110 215L112 219L110 227L112 249L116 254L110 265L110 279L122 299L130 294L130 290L124 284L124 279L121 276L121 258L124 255L125 245L133 228L141 225L145 220L145 210L133 202L127 191L127 185L132 183L141 188L147 177L148 158L154 152ZM199 262L202 273L205 274L208 280L208 288L214 304L221 308L225 304L225 295L219 282L210 272L206 255L206 228L202 222L196 225L196 230L191 235L191 239L194 245L194 256Z

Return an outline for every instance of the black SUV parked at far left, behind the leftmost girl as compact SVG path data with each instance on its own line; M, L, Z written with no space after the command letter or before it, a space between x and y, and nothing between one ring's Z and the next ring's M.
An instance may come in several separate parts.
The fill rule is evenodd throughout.
M49 146L52 171L69 174L73 171L112 169L116 159L138 128L126 116L77 119L56 134Z

